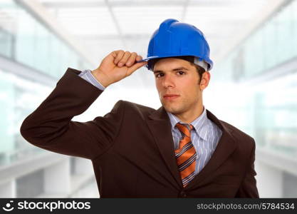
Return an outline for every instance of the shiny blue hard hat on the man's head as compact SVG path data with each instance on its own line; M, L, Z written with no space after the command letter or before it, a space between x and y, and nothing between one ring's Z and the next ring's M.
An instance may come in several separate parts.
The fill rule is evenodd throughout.
M194 56L197 64L207 65L206 70L212 69L212 60L209 58L209 44L204 38L202 31L191 24L166 19L160 24L152 37L147 49L147 68L151 70L150 60L170 56Z

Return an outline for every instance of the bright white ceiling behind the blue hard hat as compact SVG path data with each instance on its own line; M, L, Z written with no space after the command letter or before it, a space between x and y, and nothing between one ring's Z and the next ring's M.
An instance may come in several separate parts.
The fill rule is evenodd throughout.
M150 36L169 18L202 30L214 59L269 6L269 0L38 1L85 46L95 62L118 49L145 57Z

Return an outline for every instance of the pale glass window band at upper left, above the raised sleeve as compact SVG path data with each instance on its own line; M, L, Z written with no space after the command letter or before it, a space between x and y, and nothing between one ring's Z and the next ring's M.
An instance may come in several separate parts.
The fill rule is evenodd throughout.
M0 54L54 78L60 78L68 67L79 69L81 63L78 62L85 58L21 5L14 1L9 5L15 8L16 29L14 34L9 34L0 21ZM0 4L1 9L4 6L7 5Z

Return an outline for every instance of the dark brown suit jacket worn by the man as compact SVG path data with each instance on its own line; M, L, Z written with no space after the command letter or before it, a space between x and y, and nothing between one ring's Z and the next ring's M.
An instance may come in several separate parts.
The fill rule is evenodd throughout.
M78 73L68 68L24 120L21 135L48 151L90 159L101 198L259 198L253 138L207 111L222 138L207 165L183 188L165 109L118 101L103 117L71 121L103 92Z

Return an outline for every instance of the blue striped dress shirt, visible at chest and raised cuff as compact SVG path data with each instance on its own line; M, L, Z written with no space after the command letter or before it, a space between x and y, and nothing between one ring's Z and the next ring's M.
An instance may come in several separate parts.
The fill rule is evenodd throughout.
M93 86L104 91L105 87L102 86L101 83L93 76L90 70L81 72L79 76L85 79L85 81L93 84ZM172 113L167 112L167 114L170 118L170 123L172 126L174 149L177 149L179 147L179 141L182 138L182 134L178 128L175 127L175 125L182 122L179 121L179 118L174 116ZM212 153L214 153L214 150L217 148L217 143L219 143L219 139L222 136L222 131L216 124L207 118L207 111L204 106L202 114L192 121L191 124L194 126L191 131L191 140L197 152L196 168L194 174L197 175L212 157Z

